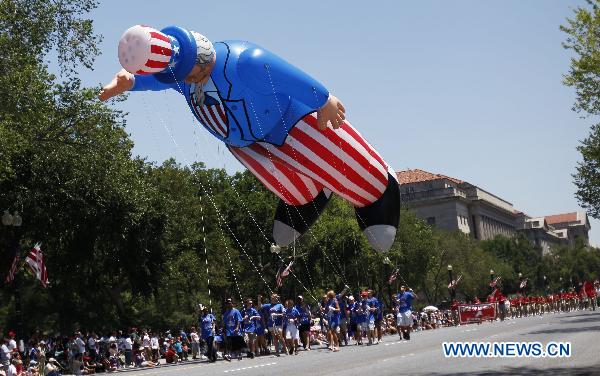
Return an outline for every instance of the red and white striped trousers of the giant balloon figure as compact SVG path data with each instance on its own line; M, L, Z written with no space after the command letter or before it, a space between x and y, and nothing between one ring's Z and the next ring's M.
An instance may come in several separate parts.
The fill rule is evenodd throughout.
M388 184L388 165L350 123L321 131L316 113L300 120L282 146L257 142L229 150L265 187L294 206L328 188L363 207L379 199Z

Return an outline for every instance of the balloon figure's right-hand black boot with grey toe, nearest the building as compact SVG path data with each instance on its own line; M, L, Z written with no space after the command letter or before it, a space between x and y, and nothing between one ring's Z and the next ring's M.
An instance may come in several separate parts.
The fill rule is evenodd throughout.
M387 252L394 244L400 222L400 188L388 172L388 185L374 203L355 208L356 220L373 248Z

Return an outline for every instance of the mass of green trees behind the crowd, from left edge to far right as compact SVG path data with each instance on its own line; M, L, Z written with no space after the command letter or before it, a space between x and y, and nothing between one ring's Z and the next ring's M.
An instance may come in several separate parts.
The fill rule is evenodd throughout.
M437 303L448 299L448 264L463 275L459 290L468 297L489 293L490 268L511 289L519 271L583 278L598 264L590 250L543 258L521 238L480 243L404 209L396 243L382 255L339 198L294 247L271 253L277 200L256 178L132 155L124 114L99 102L98 88L81 85L77 72L98 54L100 36L87 18L95 5L0 2L0 210L23 216L18 234L0 227L1 277L17 237L22 255L43 242L50 279L42 289L20 272L29 332L173 328L194 323L200 302L219 312L225 297L278 291L314 304L345 284L373 288L384 300L408 284L421 304ZM49 71L50 57L58 75ZM277 270L292 259L293 272L277 288ZM398 279L389 285L395 268ZM14 287L0 288L0 328L18 320Z

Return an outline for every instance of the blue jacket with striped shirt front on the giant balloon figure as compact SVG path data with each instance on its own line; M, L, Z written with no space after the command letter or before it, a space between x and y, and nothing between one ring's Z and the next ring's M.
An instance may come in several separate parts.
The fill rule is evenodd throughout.
M214 48L216 63L204 87L136 75L131 90L177 90L210 133L237 147L282 145L292 127L329 98L320 82L256 44L228 40Z

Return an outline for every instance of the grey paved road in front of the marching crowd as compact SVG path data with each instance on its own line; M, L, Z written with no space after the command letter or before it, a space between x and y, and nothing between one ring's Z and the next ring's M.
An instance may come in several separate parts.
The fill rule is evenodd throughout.
M445 341L549 341L572 343L570 358L445 358ZM413 333L411 341L386 337L376 346L302 352L231 363L196 363L131 372L142 375L600 375L600 311L535 316L505 322Z

